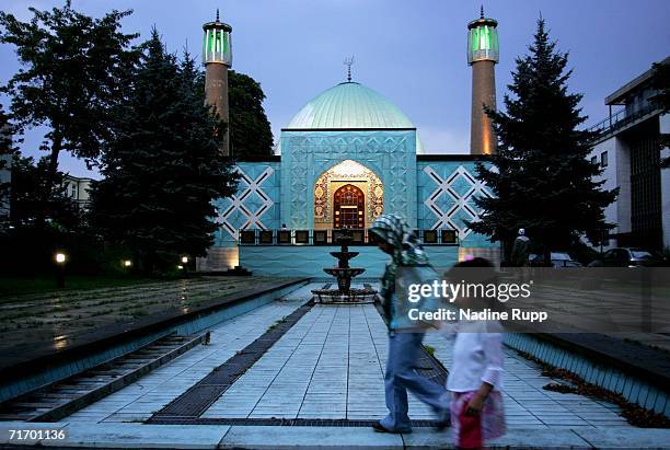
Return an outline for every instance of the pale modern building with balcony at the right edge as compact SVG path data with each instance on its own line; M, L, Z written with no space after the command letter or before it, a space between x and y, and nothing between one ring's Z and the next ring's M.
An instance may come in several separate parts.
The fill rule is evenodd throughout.
M615 228L604 247L670 246L670 169L660 168L670 149L661 150L659 141L670 134L670 114L650 101L657 94L654 74L649 69L608 95L610 115L591 128L599 136L589 158L603 169L597 180L605 182L604 188L619 187L617 199L605 209Z

